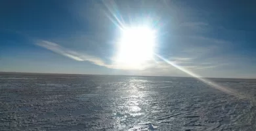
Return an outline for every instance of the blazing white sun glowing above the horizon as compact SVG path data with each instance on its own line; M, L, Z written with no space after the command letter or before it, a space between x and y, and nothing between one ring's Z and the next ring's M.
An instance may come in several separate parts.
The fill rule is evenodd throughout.
M156 32L146 26L121 30L115 61L130 69L142 69L154 56Z

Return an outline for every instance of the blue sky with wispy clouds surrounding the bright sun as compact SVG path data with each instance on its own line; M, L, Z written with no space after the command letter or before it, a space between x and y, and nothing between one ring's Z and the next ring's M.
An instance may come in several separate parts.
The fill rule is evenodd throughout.
M154 51L202 77L256 78L255 1L0 1L0 71L97 75L188 74L154 58L114 64L120 26L147 24ZM132 52L131 52L132 53Z

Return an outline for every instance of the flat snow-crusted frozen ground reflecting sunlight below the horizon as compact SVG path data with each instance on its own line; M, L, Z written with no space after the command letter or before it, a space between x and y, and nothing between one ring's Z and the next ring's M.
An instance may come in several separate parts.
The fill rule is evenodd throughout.
M239 99L192 78L0 75L1 130L256 130L256 81L213 79Z

